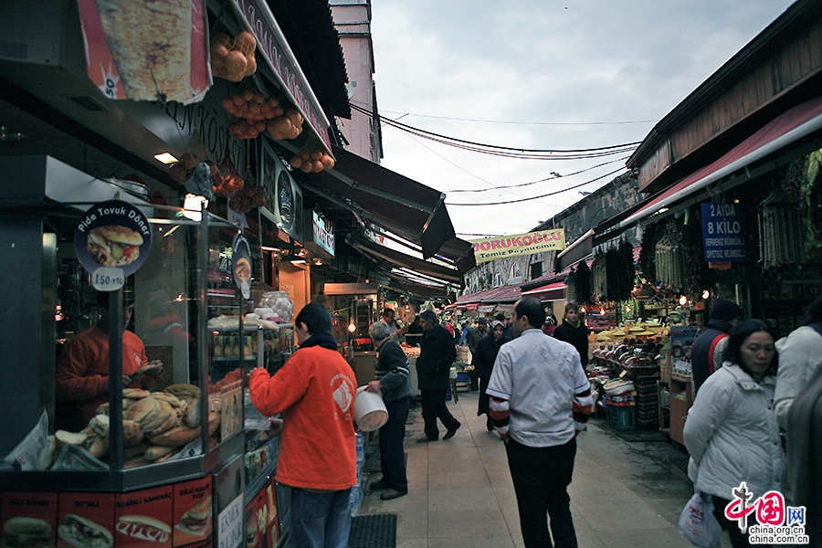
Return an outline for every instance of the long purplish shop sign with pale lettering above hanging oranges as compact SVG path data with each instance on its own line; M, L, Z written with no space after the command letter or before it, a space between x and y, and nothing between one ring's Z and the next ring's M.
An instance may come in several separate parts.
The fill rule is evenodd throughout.
M232 0L231 3L257 38L258 48L279 79L282 89L311 126L314 134L320 138L325 146L325 152L331 154L331 140L328 136L331 122L322 113L320 101L317 100L297 59L291 53L291 48L271 14L269 5L258 0Z

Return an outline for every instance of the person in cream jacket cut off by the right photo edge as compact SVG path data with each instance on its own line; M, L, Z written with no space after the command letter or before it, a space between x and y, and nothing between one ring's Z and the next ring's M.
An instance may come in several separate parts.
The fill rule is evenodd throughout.
M822 359L822 296L811 302L802 327L776 342L776 350L779 373L776 374L774 411L779 427L787 429L788 408Z

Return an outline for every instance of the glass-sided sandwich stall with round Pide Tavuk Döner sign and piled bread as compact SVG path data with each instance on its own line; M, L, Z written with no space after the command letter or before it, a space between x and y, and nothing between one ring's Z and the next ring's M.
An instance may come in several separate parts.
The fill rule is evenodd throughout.
M0 450L0 521L39 520L60 545L235 546L252 508L273 546L287 510L272 479L279 438L247 424L259 417L246 416L245 373L276 371L293 326L241 313L253 266L238 228L47 156L3 157L0 170L16 183L0 240L29 265L0 284L15 311L0 334L15 364L0 401L16 416ZM71 362L90 334L109 347L93 364L105 374ZM126 371L129 356L148 364ZM128 386L110 382L124 374ZM97 401L65 387L92 377L102 403L86 420L79 410Z

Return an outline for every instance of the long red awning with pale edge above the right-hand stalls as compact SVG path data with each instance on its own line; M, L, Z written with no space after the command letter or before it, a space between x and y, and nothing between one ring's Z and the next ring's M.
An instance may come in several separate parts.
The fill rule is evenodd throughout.
M736 145L716 162L688 175L666 190L643 200L618 216L614 216L595 227L598 237L606 231L618 232L651 216L660 209L670 207L682 199L693 195L706 186L715 183L744 167L775 153L785 146L807 135L822 130L822 97L809 100L783 112L762 129ZM744 177L739 183L747 180ZM605 237L613 237L606 234ZM598 239L598 238L597 238ZM595 242L599 243L599 242ZM567 249L566 249L567 251Z

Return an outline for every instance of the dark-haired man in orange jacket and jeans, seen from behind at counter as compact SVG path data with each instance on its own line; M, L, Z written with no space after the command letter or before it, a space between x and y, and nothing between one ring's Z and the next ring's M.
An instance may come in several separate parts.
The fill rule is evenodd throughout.
M300 349L273 376L258 368L248 386L265 416L282 413L276 479L291 488L295 546L345 548L357 482L353 428L356 378L337 352L331 312L318 302L294 320Z

